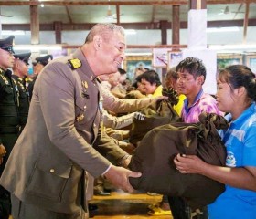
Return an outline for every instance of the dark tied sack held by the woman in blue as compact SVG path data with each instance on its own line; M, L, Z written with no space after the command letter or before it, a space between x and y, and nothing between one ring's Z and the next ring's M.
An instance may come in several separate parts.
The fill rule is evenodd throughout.
M176 122L149 131L134 151L129 168L142 172L130 178L133 188L183 197L193 209L212 203L224 184L198 174L181 174L173 159L177 153L197 155L205 162L224 166L226 151L217 129L228 126L215 114L201 114L198 123Z

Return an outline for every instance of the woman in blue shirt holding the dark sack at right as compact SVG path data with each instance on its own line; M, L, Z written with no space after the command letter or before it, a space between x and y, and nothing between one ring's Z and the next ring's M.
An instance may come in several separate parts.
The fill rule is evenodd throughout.
M213 166L193 155L178 154L174 162L179 172L202 174L226 184L226 191L208 205L209 219L255 219L255 75L250 68L234 65L221 70L217 82L219 110L229 113L229 129L220 133L227 148L226 166Z

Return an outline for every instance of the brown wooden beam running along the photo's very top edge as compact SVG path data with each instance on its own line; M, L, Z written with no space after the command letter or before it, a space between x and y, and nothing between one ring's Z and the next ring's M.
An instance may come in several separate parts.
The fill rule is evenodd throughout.
M256 0L207 0L208 5L216 4L238 4L256 3ZM166 0L166 1L0 1L0 5L188 5L188 0Z

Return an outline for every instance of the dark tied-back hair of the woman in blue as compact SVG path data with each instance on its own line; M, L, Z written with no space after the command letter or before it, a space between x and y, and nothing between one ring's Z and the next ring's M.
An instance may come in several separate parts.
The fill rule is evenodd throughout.
M247 96L256 100L256 78L250 68L243 65L232 65L219 71L219 80L228 83L231 89L244 87Z

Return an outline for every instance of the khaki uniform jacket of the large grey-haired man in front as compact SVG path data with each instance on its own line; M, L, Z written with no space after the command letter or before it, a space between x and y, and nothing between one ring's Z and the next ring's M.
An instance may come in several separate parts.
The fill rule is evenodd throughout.
M69 59L74 58L72 69ZM37 78L27 125L0 180L5 189L40 208L80 211L83 170L98 177L111 164L91 147L100 124L99 99L80 49L50 62ZM95 147L99 150L101 143ZM102 154L121 158L126 153L110 143Z

